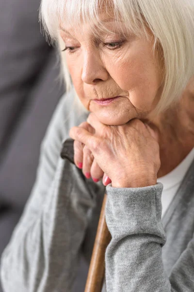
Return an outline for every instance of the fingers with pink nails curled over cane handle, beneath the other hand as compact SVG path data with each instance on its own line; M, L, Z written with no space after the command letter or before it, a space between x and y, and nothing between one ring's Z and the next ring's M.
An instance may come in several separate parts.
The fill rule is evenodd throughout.
M95 134L95 129L87 122L81 123L79 127L87 130L89 133ZM98 166L90 149L78 140L74 141L74 162L77 167L82 169L87 179L92 177L93 181L96 183L103 179L104 185L111 183L109 177L104 174L104 171Z

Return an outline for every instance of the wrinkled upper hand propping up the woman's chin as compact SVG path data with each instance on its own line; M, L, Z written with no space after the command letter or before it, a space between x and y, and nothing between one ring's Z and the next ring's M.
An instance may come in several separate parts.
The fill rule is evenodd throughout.
M70 137L87 146L95 163L113 187L143 187L157 183L160 151L157 134L138 119L122 126L106 126L94 113L87 119L95 129L73 127Z

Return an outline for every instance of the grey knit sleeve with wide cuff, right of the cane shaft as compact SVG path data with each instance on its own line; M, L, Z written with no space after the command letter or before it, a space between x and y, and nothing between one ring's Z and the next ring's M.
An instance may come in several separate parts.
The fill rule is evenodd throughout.
M166 236L161 222L162 184L107 187L107 292L194 291L194 238L168 277L162 263Z

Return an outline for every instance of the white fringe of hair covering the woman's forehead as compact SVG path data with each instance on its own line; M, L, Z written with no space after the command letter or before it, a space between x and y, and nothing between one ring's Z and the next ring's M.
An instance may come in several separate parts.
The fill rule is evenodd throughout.
M129 1L129 2L128 2ZM92 34L101 35L124 30L141 35L145 21L139 19L131 0L42 0L43 25L52 39L58 39L59 28L75 35L86 26ZM44 4L44 5L43 5Z

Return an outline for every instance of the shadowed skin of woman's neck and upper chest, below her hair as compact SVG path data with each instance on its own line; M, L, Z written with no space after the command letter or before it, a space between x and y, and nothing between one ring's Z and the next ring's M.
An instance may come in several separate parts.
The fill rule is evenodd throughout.
M158 178L182 162L194 147L194 92L187 90L178 104L162 113L154 126L159 131L161 168Z

